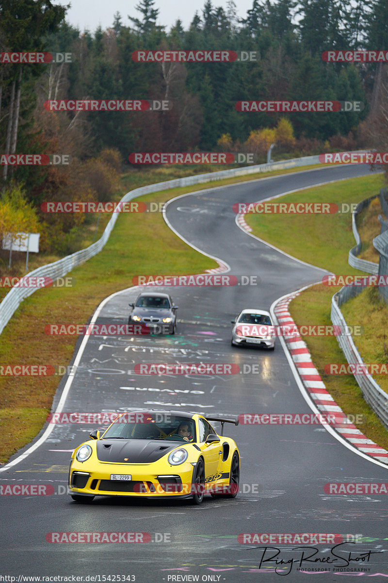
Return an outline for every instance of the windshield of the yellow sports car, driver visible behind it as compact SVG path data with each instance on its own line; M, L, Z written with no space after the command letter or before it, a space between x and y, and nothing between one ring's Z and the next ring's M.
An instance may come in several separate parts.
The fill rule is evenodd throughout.
M138 423L133 423L134 417ZM129 422L130 421L130 422ZM129 413L112 423L102 439L147 439L163 441L197 441L195 422L190 417L170 413Z

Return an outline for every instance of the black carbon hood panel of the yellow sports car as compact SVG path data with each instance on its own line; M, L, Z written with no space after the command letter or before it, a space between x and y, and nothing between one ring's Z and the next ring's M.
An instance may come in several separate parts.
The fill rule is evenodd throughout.
M113 463L156 462L176 447L176 443L147 439L104 439L96 442L99 461Z

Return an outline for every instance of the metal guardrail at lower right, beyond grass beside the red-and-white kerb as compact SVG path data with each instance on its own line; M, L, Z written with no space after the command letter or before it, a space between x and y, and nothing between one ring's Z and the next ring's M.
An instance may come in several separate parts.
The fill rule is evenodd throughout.
M330 316L333 324L340 326L341 331L343 332L343 334L337 336L337 340L346 356L346 360L348 363L362 364L361 356L354 345L353 338L344 334L346 321L339 308L344 301L348 300L348 289L350 287L358 287L359 290L362 290L365 286L347 286L340 289L340 291L337 291L332 297L332 310ZM376 415L378 415L379 419L382 420L383 424L388 429L388 394L379 387L370 374L354 374L354 378L357 381L359 388L361 388L365 401L369 403Z

